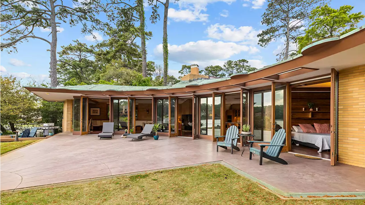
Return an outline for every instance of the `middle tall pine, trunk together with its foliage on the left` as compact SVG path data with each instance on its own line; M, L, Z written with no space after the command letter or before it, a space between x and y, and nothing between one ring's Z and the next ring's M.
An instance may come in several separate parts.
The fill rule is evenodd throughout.
M129 4L126 1L111 0L107 4L107 16L110 20L130 22L139 21L139 37L141 38L141 53L142 53L142 76L147 77L147 51L146 51L146 25L145 25L145 9L143 0L135 0L134 4ZM137 16L134 14L137 13Z

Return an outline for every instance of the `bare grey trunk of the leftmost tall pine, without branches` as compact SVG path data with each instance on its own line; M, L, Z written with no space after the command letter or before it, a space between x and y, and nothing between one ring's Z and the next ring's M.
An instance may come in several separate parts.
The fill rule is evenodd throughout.
M51 41L51 61L50 61L50 78L51 78L51 87L57 87L57 24L56 24L56 12L54 8L54 1L50 0L50 7L51 7L51 17L50 17L50 24L51 24L51 34L52 34L52 41Z

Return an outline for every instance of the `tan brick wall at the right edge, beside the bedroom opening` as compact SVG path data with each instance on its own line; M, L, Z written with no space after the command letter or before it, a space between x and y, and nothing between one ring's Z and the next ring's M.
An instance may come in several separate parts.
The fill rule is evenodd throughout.
M339 71L338 161L365 167L365 65Z

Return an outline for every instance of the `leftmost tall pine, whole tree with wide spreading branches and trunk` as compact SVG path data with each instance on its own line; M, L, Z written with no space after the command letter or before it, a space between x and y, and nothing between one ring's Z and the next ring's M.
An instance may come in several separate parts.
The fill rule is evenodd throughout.
M75 26L82 23L83 33L101 30L104 24L97 18L100 0L72 0L74 8L56 3L57 0L2 0L0 1L0 43L1 51L16 51L16 45L29 38L41 39L50 45L51 86L57 86L57 27L60 22ZM51 40L34 33L37 27L50 28Z

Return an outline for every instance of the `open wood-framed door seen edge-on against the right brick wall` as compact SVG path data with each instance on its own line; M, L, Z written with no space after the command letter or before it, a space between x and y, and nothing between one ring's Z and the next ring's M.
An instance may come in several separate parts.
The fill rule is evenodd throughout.
M331 165L338 162L338 72L331 70Z

